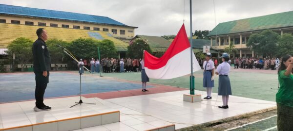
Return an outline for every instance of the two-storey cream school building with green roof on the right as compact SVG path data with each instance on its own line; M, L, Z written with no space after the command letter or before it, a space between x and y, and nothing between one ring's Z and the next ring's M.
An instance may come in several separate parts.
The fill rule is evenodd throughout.
M233 43L237 51L231 57L262 57L247 48L246 43L252 33L264 30L279 34L293 33L293 11L219 23L208 37L211 48L221 52Z

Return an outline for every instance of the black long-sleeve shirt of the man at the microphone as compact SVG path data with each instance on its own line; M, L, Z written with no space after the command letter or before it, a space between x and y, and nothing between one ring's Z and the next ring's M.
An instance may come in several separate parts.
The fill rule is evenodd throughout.
M48 71L51 68L51 57L46 43L38 38L33 44L34 71Z

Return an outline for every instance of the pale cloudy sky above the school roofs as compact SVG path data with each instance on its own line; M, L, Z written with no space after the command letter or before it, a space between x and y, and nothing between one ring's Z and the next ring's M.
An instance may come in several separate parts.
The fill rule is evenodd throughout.
M136 34L154 36L176 34L185 19L190 34L189 0L0 0L0 3L108 16L139 27ZM212 30L220 22L293 11L293 0L214 0L214 3L192 0L193 32Z

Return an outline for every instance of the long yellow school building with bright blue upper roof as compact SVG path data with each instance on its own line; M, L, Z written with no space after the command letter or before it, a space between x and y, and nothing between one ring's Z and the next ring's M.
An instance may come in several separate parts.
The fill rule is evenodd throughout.
M119 56L125 56L128 43L135 29L106 16L95 16L55 10L45 10L0 4L0 52L18 37L37 39L36 30L45 28L49 39L71 42L74 39L109 39L114 42Z

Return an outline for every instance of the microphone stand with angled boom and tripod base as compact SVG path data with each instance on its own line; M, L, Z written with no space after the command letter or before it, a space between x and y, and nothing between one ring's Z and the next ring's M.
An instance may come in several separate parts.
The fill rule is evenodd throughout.
M71 52L68 50L68 49L66 49L66 48L64 48L64 47L62 47L62 46L60 46L60 45L57 45L58 47L60 47L60 48L62 48L63 49L63 51L68 55L68 56L70 56L73 60L75 60L77 63L79 63L79 61L71 54ZM68 53L68 52L70 53ZM71 108L71 107L74 107L74 106L76 106L76 105L78 105L78 104L80 104L80 105L82 105L83 103L84 104L96 104L96 103L85 103L85 102L83 102L83 100L82 100L82 74L83 74L83 72L82 72L82 70L83 69L86 69L88 72L90 72L90 70L89 69L87 69L86 67L84 67L83 65L81 65L81 67L79 67L79 73L80 73L80 100L79 100L79 102L75 102L76 104L74 104L73 106L70 106L69 108ZM91 73L91 72L90 72Z

